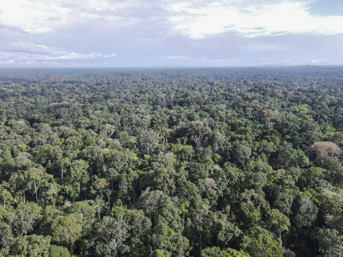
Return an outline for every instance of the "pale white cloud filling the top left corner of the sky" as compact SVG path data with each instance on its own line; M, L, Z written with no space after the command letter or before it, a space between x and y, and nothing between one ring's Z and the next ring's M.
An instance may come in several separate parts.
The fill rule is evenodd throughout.
M75 21L103 20L114 25L132 25L137 19L123 19L125 8L138 7L140 1L111 0L14 0L0 5L0 24L16 26L40 34L69 26Z

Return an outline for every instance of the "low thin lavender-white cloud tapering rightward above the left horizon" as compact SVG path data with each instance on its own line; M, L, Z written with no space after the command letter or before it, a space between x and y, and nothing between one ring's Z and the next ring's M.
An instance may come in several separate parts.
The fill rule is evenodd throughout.
M15 61L15 62L37 62L37 61L53 61L53 60L84 60L84 59L104 59L114 58L115 53L76 53L68 52L61 47L47 47L44 45L36 45L26 42L16 42L3 44L0 46L0 61Z

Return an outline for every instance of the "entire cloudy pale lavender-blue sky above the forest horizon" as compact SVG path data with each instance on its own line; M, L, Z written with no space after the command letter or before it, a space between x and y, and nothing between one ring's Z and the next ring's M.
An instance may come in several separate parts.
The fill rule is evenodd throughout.
M0 67L343 64L343 0L6 0Z

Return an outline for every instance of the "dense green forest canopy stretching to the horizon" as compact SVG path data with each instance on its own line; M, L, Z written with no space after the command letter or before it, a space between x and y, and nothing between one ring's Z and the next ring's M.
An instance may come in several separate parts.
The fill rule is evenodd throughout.
M0 69L0 256L343 256L343 67Z

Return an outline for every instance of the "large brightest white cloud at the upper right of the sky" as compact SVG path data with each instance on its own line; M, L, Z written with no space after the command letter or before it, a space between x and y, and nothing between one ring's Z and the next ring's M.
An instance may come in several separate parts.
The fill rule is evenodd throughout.
M234 32L246 37L287 33L342 34L343 16L310 15L307 1L272 1L241 6L241 1L171 3L174 28L192 38Z

